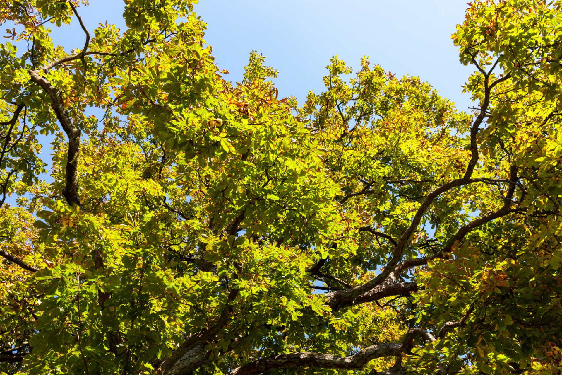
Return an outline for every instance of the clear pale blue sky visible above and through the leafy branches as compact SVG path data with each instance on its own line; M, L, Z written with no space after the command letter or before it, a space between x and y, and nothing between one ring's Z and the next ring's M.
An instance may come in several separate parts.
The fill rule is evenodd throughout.
M205 39L219 68L230 71L224 78L232 82L242 81L250 51L256 49L279 71L274 82L280 97L293 95L302 103L309 90L323 90L330 57L338 55L356 68L365 55L371 64L397 76L420 76L457 109L467 110L470 96L461 86L473 69L460 64L450 39L464 20L465 1L201 0L194 11L209 24ZM123 7L121 0L89 0L78 10L90 31L105 21L124 31ZM67 52L84 46L84 33L75 19L61 28L50 27L53 42ZM52 137L41 139L50 168ZM49 175L43 178L52 180Z

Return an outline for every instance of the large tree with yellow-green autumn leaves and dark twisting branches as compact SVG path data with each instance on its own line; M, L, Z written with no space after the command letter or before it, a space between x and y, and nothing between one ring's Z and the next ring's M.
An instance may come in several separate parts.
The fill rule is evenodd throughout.
M125 3L0 4L2 371L560 373L559 2L469 4L472 114L365 57L298 107L194 2Z

